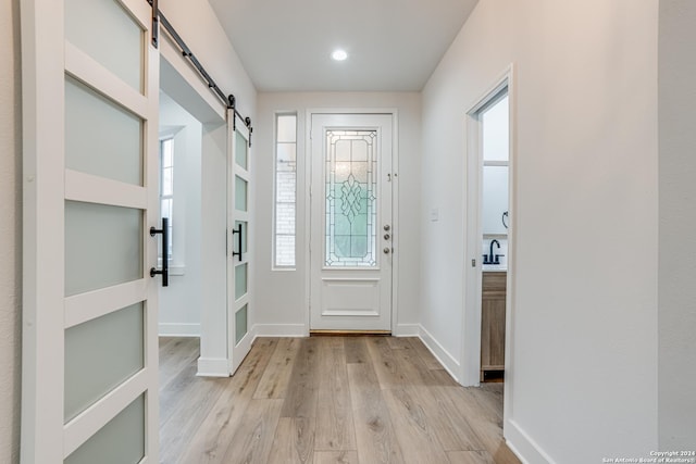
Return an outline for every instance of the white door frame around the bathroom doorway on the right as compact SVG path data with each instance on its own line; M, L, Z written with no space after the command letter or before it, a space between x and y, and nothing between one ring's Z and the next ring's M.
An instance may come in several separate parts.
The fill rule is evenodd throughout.
M464 256L464 279L463 301L464 314L461 330L462 351L461 351L461 371L460 378L463 386L478 386L481 375L481 298L482 298L482 260L481 260L481 241L483 237L482 224L482 197L483 197L483 159L480 147L481 141L481 122L477 113L484 108L490 99L495 98L501 90L508 91L509 100L509 211L510 224L508 230L508 273L507 273L507 293L506 293L506 336L505 336L505 409L504 424L507 424L509 411L511 411L511 391L514 385L514 363L513 354L513 293L515 281L515 254L517 254L517 201L515 201L515 180L517 180L517 89L514 80L514 65L510 64L506 71L498 77L494 84L488 87L475 102L469 106L467 111L465 134L467 134L467 217L465 217L465 236L467 236L467 254ZM475 266L472 266L472 260L475 260Z

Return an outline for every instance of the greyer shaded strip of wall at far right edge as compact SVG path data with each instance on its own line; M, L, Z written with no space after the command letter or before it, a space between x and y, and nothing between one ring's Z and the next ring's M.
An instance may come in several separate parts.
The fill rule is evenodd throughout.
M696 2L660 2L659 448L696 443Z

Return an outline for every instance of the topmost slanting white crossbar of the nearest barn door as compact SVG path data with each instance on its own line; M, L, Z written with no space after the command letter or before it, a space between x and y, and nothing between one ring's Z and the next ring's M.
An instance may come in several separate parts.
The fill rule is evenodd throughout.
M148 99L65 40L65 72L119 106L148 118Z

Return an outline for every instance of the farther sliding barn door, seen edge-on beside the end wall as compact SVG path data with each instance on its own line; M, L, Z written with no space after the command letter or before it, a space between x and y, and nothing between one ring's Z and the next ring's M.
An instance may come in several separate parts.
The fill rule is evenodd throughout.
M249 128L227 110L227 347L229 374L234 374L251 349L249 333L249 231L251 191Z

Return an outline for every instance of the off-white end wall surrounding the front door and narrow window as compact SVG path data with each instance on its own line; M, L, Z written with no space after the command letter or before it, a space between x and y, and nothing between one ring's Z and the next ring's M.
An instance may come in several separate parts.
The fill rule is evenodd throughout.
M254 288L259 334L304 335L308 319L304 243L308 220L306 188L306 117L308 109L397 109L399 131L399 253L397 334L414 334L420 301L420 95L419 93L260 93L259 117L252 140L256 193ZM298 113L297 267L272 269L274 117Z

